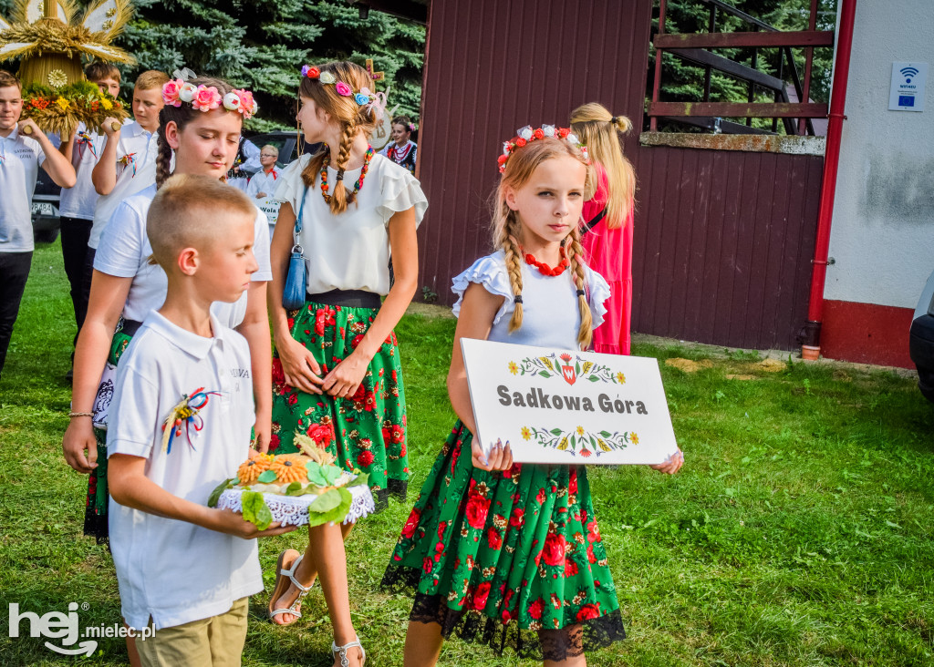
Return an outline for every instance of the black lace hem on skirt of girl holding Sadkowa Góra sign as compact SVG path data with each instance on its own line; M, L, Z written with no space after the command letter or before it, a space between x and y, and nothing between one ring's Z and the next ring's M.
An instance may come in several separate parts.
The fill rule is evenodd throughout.
M451 609L440 595L417 592L420 577L420 570L390 564L381 587L386 591L407 593L414 597L410 621L437 623L445 639L456 634L466 642L486 644L497 655L511 648L520 658L560 661L626 638L623 618L618 609L560 630L525 630L519 628L515 621L503 624L473 609Z

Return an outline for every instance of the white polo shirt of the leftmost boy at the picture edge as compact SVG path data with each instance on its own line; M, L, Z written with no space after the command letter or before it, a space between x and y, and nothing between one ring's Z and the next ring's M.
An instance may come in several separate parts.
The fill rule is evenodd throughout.
M39 142L22 136L19 126L0 136L0 253L27 253L35 247L33 192L45 160Z

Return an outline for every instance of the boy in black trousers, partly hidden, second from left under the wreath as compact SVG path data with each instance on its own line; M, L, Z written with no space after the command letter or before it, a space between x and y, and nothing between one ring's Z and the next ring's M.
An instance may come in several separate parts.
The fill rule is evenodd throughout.
M97 84L101 92L113 97L120 94L120 70L110 63L91 63L84 68L84 76ZM59 150L65 159L75 168L78 182L74 188L62 190L59 209L62 215L62 258L64 273L71 285L71 303L75 309L75 324L78 331L84 324L84 315L88 312L88 292L91 285L84 281L84 260L88 256L88 239L94 219L94 207L100 195L94 189L91 174L104 150L105 138L97 132L90 132L84 123L78 123L71 137L62 142ZM75 343L78 332L75 333ZM73 370L68 369L65 376L71 381Z

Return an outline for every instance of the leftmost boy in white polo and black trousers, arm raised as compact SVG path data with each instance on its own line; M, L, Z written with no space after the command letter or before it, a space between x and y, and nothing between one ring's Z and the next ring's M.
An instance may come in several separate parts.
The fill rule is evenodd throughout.
M20 79L0 70L0 373L33 261L33 192L39 166L63 188L75 169L32 119L20 120ZM30 128L30 136L22 131Z

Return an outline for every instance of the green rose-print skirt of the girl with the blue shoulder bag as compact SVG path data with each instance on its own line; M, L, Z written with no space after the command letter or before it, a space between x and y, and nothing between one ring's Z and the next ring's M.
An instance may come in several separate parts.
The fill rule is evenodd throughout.
M289 313L292 338L314 354L322 376L347 358L373 324L376 308L329 306L305 301ZM273 354L273 434L269 451L297 452L294 434L303 433L337 457L348 471L368 473L376 507L389 495L405 498L405 390L395 333L390 333L370 362L354 396L305 394L285 381L282 362Z

